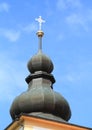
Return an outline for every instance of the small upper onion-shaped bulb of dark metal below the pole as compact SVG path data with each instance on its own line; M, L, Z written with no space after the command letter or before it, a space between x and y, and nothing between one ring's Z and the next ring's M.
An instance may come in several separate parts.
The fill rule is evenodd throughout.
M28 62L28 69L31 73L36 71L45 71L47 73L51 73L53 70L53 63L49 57L39 51Z

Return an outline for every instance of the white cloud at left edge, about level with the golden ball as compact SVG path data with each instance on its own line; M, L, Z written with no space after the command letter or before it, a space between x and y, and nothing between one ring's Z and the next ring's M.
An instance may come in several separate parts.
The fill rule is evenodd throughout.
M11 42L16 42L20 37L20 31L0 29L0 35L7 38Z

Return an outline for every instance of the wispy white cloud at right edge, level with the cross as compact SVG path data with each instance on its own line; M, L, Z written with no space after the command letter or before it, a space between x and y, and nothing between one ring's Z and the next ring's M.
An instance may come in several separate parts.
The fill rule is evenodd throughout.
M72 29L83 29L88 32L92 29L92 10L86 9L79 13L71 13L66 16L65 21Z

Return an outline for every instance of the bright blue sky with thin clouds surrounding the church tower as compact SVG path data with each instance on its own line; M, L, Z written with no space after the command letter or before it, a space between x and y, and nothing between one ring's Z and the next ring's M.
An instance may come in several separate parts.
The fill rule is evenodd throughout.
M54 90L70 104L70 123L92 127L92 1L0 0L0 130L12 121L12 101L27 89L26 64L38 51L40 15Z

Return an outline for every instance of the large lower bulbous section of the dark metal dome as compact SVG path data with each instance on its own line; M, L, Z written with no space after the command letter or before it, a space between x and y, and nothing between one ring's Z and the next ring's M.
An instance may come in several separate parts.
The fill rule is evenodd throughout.
M68 102L57 92L54 92L46 80L42 80L42 85L30 85L30 89L18 96L11 106L11 116L13 119L21 113L30 114L32 112L45 112L58 116L65 121L71 116Z

